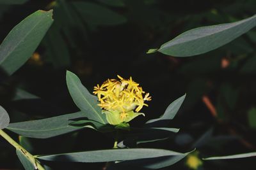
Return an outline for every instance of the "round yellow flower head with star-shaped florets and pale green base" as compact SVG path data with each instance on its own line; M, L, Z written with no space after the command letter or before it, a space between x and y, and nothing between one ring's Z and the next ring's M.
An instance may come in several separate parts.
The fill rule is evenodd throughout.
M122 78L120 80L108 79L102 85L94 87L93 94L97 95L100 108L106 113L109 124L129 122L132 118L143 113L138 113L143 106L148 106L145 101L150 101L149 94L145 94L138 83ZM134 113L135 110L137 113Z

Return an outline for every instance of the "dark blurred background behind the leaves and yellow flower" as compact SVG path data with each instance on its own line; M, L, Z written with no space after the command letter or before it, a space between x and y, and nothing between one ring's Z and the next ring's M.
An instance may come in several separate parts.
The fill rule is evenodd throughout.
M195 57L147 54L150 48L184 31L234 22L256 13L254 0L0 0L0 41L36 10L54 9L54 23L36 52L15 74L1 77L0 103L11 122L35 120L78 111L70 97L65 72L93 86L116 74L132 76L152 101L131 126L164 113L168 104L187 94L170 127L170 139L141 147L188 152L196 157L256 150L256 29L217 50ZM50 139L29 139L12 132L33 154L111 148L113 139L90 129ZM15 150L0 139L0 169L22 169ZM165 169L191 169L184 159ZM104 164L47 162L53 169L102 169ZM193 169L255 169L255 157L204 161ZM191 164L190 164L191 166Z

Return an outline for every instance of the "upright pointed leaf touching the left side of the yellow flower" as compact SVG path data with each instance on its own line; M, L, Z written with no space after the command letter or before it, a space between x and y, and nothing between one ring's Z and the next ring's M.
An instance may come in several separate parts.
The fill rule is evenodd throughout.
M67 71L67 86L74 103L88 119L107 124L106 116L102 114L102 110L97 106L98 101L95 96L92 96L76 74L70 71Z

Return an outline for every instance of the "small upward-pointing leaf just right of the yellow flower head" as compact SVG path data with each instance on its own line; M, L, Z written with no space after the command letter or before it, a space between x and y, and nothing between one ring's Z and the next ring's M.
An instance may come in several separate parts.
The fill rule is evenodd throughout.
M146 125L150 125L153 123L155 124L157 122L161 123L161 121L173 119L175 117L176 113L179 111L179 108L180 108L181 104L183 103L185 97L186 97L186 94L184 94L184 96L179 97L179 99L176 99L175 101L173 101L173 103L171 103L168 106L168 108L164 111L163 116L161 116L160 118L148 120L148 122L146 122Z

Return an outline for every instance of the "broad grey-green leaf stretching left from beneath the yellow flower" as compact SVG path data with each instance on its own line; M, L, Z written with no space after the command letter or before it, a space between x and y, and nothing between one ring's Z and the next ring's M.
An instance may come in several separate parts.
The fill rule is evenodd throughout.
M81 117L84 117L84 113L80 111L58 117L13 123L9 124L6 129L29 138L51 138L83 129L84 127L74 127L69 125L71 122L74 122L72 119Z

